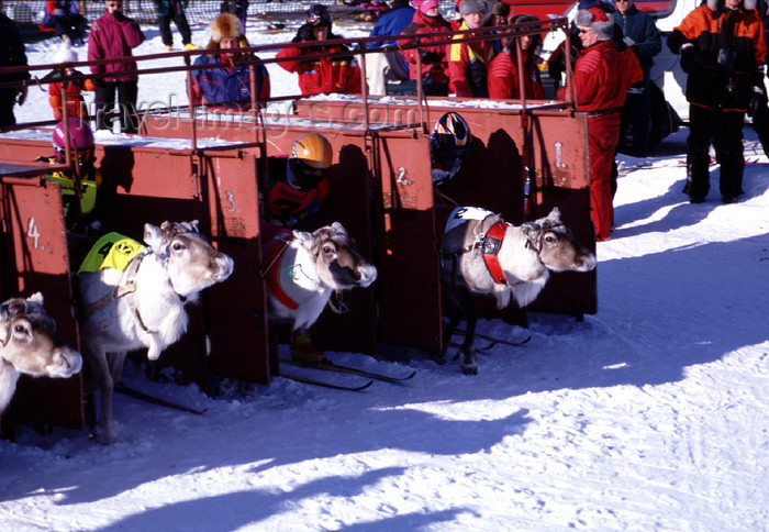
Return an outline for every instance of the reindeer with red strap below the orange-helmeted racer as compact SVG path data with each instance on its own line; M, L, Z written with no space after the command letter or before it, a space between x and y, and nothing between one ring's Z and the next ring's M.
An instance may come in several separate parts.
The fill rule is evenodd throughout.
M268 314L272 323L307 329L321 315L334 290L366 288L377 268L356 250L339 223L315 230L278 232L264 252Z

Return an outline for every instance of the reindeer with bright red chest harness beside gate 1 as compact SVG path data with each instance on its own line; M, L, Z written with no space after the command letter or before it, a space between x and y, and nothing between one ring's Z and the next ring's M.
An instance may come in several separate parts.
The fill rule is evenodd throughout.
M454 303L443 333L443 350L434 354L446 363L454 331L467 320L467 333L457 357L465 375L478 374L475 333L478 313L473 295L491 295L503 309L515 298L524 308L545 287L550 271L589 271L595 255L571 236L554 208L545 218L514 226L490 211L459 207L452 211L441 242L442 284Z

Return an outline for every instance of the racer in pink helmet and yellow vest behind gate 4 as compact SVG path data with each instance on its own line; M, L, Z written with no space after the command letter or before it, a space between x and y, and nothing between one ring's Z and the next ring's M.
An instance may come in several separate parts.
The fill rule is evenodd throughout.
M69 137L70 169L58 169L45 176L58 182L62 189L62 206L67 228L76 229L82 214L89 214L96 206L97 188L101 176L97 173L93 131L81 119L68 119L56 124L53 134L53 156L37 157L38 162L64 165L67 162L67 137ZM79 199L79 202L77 201Z

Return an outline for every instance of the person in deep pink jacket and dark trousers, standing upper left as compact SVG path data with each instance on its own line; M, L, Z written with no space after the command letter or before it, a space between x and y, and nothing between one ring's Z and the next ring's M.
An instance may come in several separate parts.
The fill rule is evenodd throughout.
M123 0L105 0L107 10L91 25L88 40L88 60L131 57L131 51L144 42L144 33L133 19L123 14ZM136 98L138 75L136 62L110 63L91 66L96 90L97 130L110 130L114 120L105 117L115 104L121 108L121 131L136 133Z

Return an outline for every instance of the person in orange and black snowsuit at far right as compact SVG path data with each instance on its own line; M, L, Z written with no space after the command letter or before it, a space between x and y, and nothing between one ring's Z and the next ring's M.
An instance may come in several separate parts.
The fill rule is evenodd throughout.
M767 45L755 0L707 0L690 12L668 37L689 74L687 185L692 203L710 190L710 145L721 165L721 196L734 203L743 193L743 121L764 96Z

